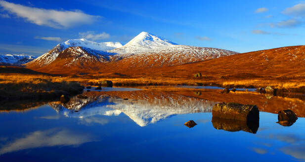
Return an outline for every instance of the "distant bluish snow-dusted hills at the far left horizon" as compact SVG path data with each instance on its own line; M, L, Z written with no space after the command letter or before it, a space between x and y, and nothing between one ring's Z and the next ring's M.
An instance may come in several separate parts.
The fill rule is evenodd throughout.
M6 54L0 55L0 64L22 65L37 58L36 56Z

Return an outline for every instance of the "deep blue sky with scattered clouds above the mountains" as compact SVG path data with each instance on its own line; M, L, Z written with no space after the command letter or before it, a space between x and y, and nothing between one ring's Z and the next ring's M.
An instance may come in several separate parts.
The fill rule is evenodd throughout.
M305 44L300 0L0 0L0 22L0 54L79 38L125 44L142 31L237 52Z

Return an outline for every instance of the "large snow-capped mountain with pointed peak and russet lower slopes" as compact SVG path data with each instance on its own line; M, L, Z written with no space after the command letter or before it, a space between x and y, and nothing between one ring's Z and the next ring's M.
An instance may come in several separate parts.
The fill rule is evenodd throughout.
M26 66L36 71L55 74L76 74L85 71L86 73L101 73L101 69L103 72L110 72L129 68L167 67L237 53L218 48L178 45L146 32L141 32L124 46L121 46L120 43L109 42L107 47L104 46L105 43L100 44L84 39L68 40L56 45L51 51L27 63ZM76 46L85 47L86 50L83 50L85 48L76 50ZM74 49L63 52L70 47ZM90 51L89 48L94 50ZM83 50L81 53L86 54L81 54L80 50ZM78 62L86 62L86 66L90 68L86 70L86 66L83 65L80 68L80 64L75 62L76 54L81 56L78 57ZM64 55L64 57L60 55ZM92 58L96 59L93 59L94 61L89 65ZM91 71L92 67L95 67L94 71ZM63 69L65 70L63 71Z

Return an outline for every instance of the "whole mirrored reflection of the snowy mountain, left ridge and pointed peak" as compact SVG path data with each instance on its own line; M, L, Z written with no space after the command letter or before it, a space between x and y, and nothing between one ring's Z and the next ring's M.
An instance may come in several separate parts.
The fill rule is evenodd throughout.
M108 98L108 97L107 97ZM189 114L211 112L216 102L198 98L177 95L162 96L163 99L149 100L123 100L123 99L72 99L73 103L66 108L50 104L55 110L63 113L66 117L87 118L94 115L118 116L122 112L140 126L146 126L164 120L176 114ZM83 103L87 103L84 105ZM79 104L79 105L78 105ZM73 106L71 106L73 105ZM75 112L79 111L79 112Z

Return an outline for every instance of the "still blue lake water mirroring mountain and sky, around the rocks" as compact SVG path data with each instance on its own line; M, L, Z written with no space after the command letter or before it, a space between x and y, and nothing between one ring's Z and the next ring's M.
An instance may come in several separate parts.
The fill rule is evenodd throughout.
M257 92L91 91L67 104L1 107L0 162L251 162L305 161L305 101ZM256 104L257 130L240 122L212 122L219 102ZM280 110L299 116L277 122ZM188 128L183 123L197 123Z

